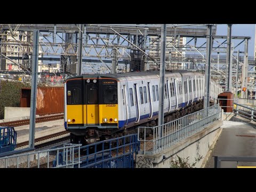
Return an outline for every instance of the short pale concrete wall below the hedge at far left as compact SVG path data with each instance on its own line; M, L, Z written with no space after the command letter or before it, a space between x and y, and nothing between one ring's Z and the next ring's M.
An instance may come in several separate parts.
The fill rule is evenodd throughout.
M4 107L4 119L30 116L30 107Z

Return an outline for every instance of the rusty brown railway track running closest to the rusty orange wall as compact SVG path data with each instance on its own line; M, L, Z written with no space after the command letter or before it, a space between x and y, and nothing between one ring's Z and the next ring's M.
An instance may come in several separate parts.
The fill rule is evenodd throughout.
M63 118L64 118L63 114L37 117L36 123L54 121L54 120L63 119ZM4 123L0 123L0 126L14 126L15 127L15 126L21 126L21 125L29 125L29 121L30 121L30 119L22 119L19 121L4 122Z

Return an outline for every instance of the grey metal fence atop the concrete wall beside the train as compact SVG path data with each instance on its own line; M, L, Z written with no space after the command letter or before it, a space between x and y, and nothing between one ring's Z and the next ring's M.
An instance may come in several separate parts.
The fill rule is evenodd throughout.
M140 151L140 153L157 154L175 143L203 130L205 127L212 125L214 121L220 119L220 114L221 109L219 104L217 104L163 125L154 127L140 126L138 127L138 140L143 142L142 145L144 147L144 150ZM153 131L153 135L149 138L146 138L147 129ZM140 132L143 132L144 139L139 138Z

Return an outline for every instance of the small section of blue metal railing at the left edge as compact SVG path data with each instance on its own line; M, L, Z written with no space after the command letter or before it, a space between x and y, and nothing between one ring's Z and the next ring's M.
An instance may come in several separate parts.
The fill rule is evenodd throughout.
M17 144L17 132L14 127L0 126L0 153L12 151Z

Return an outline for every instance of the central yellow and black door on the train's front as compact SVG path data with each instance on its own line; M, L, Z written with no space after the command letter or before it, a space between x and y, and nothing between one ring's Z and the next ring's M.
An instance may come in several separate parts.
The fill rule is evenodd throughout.
M99 124L99 82L97 79L87 79L84 85L86 124Z

